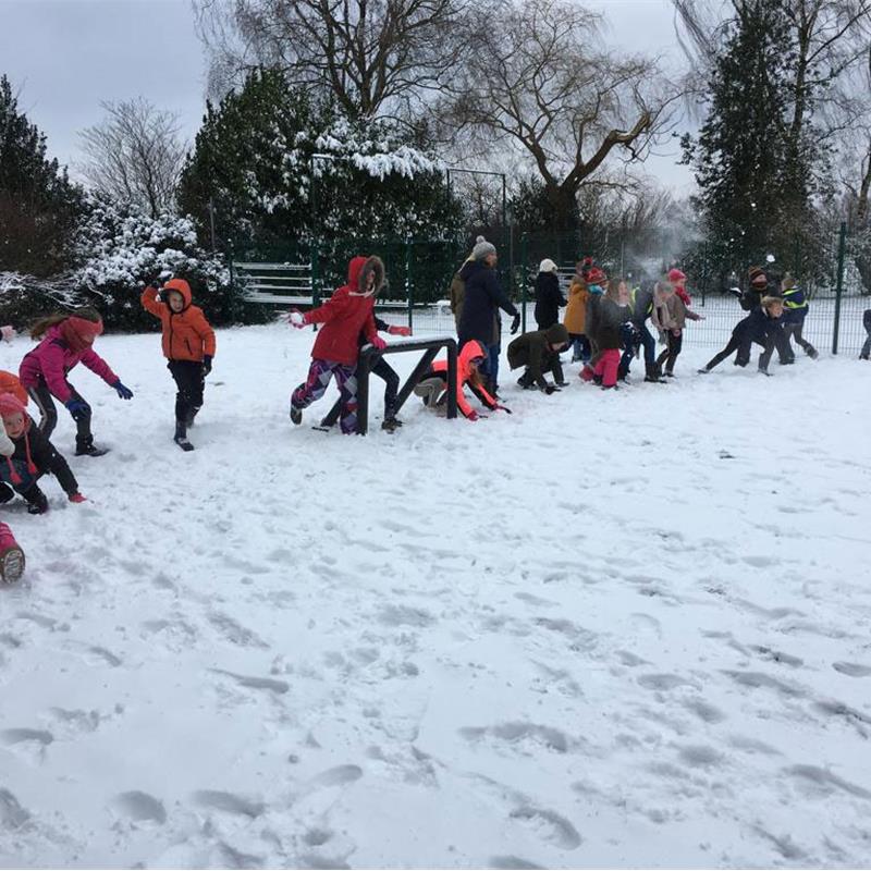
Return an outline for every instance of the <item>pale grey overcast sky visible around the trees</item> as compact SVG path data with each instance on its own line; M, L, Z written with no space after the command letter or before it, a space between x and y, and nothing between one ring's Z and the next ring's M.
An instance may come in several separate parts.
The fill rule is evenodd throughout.
M668 0L596 0L615 49L673 53ZM205 56L189 0L0 0L0 74L48 136L62 163L78 159L77 132L102 118L101 100L143 96L181 114L193 139L205 109ZM653 159L651 174L686 193L678 149Z

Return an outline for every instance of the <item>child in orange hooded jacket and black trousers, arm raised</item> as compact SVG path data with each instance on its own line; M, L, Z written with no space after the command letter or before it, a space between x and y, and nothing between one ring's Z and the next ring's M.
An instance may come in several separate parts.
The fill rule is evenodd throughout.
M163 356L175 385L175 436L182 451L193 451L187 428L203 407L206 376L214 357L214 330L203 309L191 305L191 285L184 279L170 279L162 290L146 287L142 304L160 318L163 329Z

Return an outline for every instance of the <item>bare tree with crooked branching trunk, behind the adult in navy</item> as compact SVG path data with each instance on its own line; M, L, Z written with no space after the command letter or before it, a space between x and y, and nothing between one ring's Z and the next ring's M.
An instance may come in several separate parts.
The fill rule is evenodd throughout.
M676 99L653 61L601 48L600 21L567 0L504 4L474 28L444 107L447 124L531 158L554 228L575 225L577 193L609 158L645 159Z

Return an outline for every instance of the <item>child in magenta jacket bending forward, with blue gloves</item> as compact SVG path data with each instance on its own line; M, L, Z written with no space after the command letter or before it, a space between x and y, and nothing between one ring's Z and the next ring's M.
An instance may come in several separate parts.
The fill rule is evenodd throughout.
M90 406L66 380L76 364L83 363L113 388L122 400L133 398L133 391L109 368L91 347L102 333L102 319L93 308L77 308L72 315L50 315L30 329L32 339L41 339L37 347L24 355L19 376L22 385L39 409L39 429L51 438L58 424L52 396L60 400L76 424L75 455L102 456L108 447L97 447L90 433Z

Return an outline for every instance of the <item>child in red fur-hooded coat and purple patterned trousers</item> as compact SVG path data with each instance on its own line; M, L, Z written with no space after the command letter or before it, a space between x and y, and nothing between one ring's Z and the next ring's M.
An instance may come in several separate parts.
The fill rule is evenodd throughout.
M354 257L347 268L347 284L339 287L319 308L303 315L291 311L290 322L302 330L307 323L323 329L311 349L308 378L291 395L291 420L303 422L303 409L319 400L335 376L342 395L342 432L357 431L357 381L354 370L359 356L358 336L363 331L376 347L385 347L375 328L375 297L384 284L384 265L378 257Z

